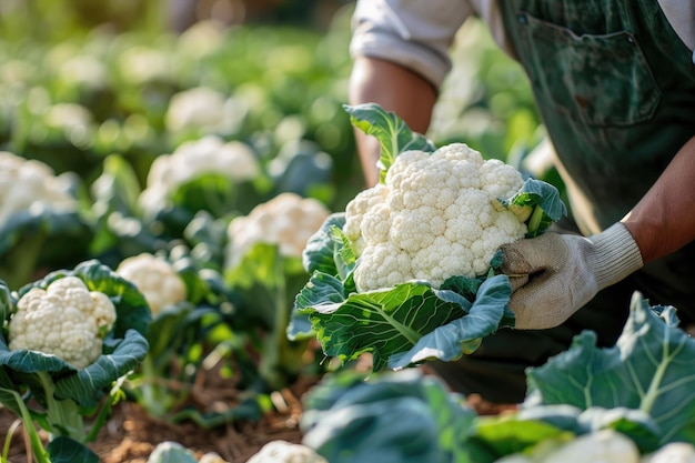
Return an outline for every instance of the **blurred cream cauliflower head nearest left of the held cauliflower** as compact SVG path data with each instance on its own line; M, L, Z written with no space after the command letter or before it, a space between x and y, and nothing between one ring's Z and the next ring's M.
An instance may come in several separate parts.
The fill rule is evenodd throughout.
M249 215L234 218L228 229L228 266L234 268L258 242L278 244L285 256L301 256L306 241L329 217L319 200L281 193L256 205Z

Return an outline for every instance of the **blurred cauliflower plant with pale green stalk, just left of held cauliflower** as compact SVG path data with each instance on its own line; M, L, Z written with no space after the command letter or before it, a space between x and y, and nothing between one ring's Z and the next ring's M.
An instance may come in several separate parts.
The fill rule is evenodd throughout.
M294 322L294 296L306 281L302 250L329 214L319 200L286 192L228 227L225 278L252 309L245 314L250 323L268 330L259 369L273 390L286 385L305 365L308 343L290 342L286 329Z

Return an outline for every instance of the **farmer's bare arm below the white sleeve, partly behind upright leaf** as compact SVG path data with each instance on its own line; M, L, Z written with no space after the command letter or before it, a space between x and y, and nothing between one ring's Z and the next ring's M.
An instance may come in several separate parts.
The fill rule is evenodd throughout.
M379 103L407 125L425 133L436 101L435 88L420 74L374 58L357 58L350 77L350 103ZM379 182L379 142L355 130L360 162L367 187Z

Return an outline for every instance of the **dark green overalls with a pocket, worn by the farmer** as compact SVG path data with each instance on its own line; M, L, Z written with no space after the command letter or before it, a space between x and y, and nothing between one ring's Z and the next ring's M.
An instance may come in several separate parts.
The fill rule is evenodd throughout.
M568 179L573 219L584 234L604 230L695 135L693 52L656 0L498 3ZM436 363L435 370L463 393L518 403L524 369L566 350L580 331L594 330L601 345L613 345L635 290L653 304L676 306L684 323L694 323L695 243L602 291L562 326L501 330L474 354Z

